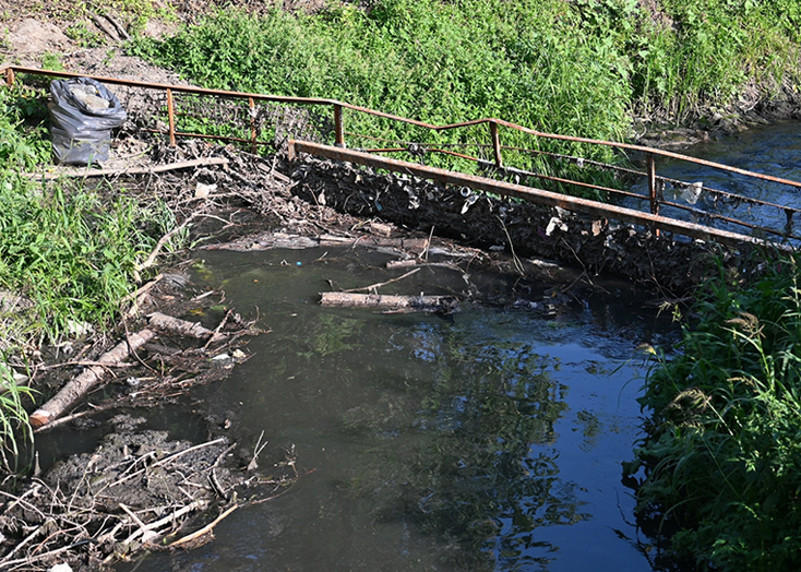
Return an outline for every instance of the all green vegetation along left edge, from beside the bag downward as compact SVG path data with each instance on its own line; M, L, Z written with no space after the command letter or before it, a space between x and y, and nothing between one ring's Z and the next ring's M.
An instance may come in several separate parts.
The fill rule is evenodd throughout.
M110 325L138 263L174 223L157 201L143 207L124 193L100 200L80 183L25 178L52 160L41 100L0 91L0 443L12 457L16 437L31 434L22 407L31 391L14 383L10 357Z

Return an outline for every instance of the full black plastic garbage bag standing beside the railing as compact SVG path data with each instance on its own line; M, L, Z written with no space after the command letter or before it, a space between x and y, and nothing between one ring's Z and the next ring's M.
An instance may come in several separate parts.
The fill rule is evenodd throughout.
M88 78L50 82L52 151L57 163L88 165L108 160L111 130L125 120L122 104Z

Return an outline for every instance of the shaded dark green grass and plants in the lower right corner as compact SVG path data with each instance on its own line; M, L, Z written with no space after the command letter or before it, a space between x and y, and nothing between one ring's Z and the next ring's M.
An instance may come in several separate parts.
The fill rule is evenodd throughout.
M678 355L647 379L653 418L627 467L646 470L639 514L702 570L794 570L801 553L798 264L749 287L712 281Z

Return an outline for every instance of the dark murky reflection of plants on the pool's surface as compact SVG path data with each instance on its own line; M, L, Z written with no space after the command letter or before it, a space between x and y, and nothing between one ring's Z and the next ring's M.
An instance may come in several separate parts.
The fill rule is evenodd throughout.
M410 517L455 548L451 557L462 564L545 567L554 547L538 543L536 528L583 517L549 448L566 408L565 388L552 377L560 364L530 341L477 334L469 324L429 323L395 337L395 348L428 362L432 377L408 380L405 395L386 397L374 410L343 416L345 427L378 430L384 440L397 431L413 436L378 446L380 474L367 469L352 485L379 501L376 517ZM399 496L380 492L390 482Z

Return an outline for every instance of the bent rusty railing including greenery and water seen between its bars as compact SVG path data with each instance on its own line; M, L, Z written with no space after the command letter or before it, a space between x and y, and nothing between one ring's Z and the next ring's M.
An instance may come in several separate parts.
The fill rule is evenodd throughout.
M145 97L151 104L151 109L154 110L146 120L142 120L142 124L136 126L138 129L164 134L169 139L171 145L176 144L177 138L202 138L237 142L258 152L263 146L278 147L292 141L295 152L312 153L330 158L400 170L420 177L438 178L450 184L479 188L488 192L511 194L545 204L557 203L553 202L555 201L553 198L543 198L546 195L541 192L548 193L549 191L539 189L539 184L570 189L573 193L585 194L585 196L562 195L558 201L560 206L594 216L645 225L657 233L665 230L727 243L767 241L794 247L798 241L801 241L801 235L794 229L801 210L792 204L779 204L760 196L714 189L700 181L685 182L659 176L656 164L657 159L682 162L712 168L733 177L743 177L750 181L775 184L778 186L777 188L789 188L793 191L801 189L801 182L670 151L546 133L497 118L438 126L327 98L208 90L17 65L5 67L0 72L4 73L9 86L15 84L16 74L50 78L88 76L101 83L118 85L127 91L125 94L118 94L123 105L125 98L133 100L136 97ZM352 114L352 117L346 117L346 111ZM391 140L375 134L347 131L346 122L359 124L359 116L407 126L409 129L417 130L415 133L418 134L418 139L414 141ZM463 135L455 138L455 143L453 141L438 143L435 136L431 138L426 134L427 132L437 134L457 130L461 130ZM525 147L514 144L519 142L522 136L533 138L530 140L533 144ZM504 144L506 140L513 140L513 144ZM384 145L349 150L348 142L356 141L371 141ZM555 151L554 148L542 148L540 142L543 141L554 144L564 143L570 148L565 152L560 152L558 148ZM637 160L642 167L623 165L625 162L610 164L589 160L575 153L576 146L583 146L583 148L609 147L615 150L626 160ZM334 152L328 147L339 151ZM476 151L474 154L465 153L464 147L473 147ZM381 157L381 155L387 156ZM400 160L398 156L406 156L413 160ZM528 165L519 167L511 164L514 159L519 160L524 156L547 157L549 160L571 165L574 174L586 168L610 171L624 181L624 184L601 184L593 180L582 180L579 177L566 178L559 174L534 170ZM453 172L454 169L426 165L431 157L453 159L457 166L466 167L467 170L471 169L473 172L463 172L461 176L454 174L455 178L444 177L440 171ZM478 177L477 174L483 176ZM637 181L644 181L644 183L637 184ZM514 187L514 192L505 192L511 189L509 184ZM518 192L526 189L536 192ZM673 196L670 196L671 192ZM587 193L590 193L590 196L603 195L607 200L590 200L591 204L587 205L585 204ZM698 204L701 196L704 200ZM751 219L738 217L736 216L738 208L745 208L749 213L758 211L761 215ZM676 214L666 216L666 211Z

